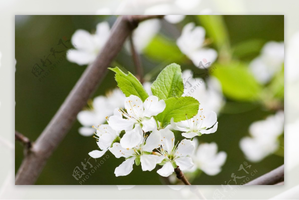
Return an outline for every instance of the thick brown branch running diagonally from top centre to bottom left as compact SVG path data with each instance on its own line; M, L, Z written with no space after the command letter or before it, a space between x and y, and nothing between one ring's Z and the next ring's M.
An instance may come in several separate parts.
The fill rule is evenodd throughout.
M16 174L16 185L34 184L53 151L63 140L77 114L82 110L87 100L103 80L107 68L121 50L124 41L137 27L138 23L161 15L128 15L120 16L112 27L108 41L91 63L70 94L67 96L55 116L49 122L35 145L22 161Z

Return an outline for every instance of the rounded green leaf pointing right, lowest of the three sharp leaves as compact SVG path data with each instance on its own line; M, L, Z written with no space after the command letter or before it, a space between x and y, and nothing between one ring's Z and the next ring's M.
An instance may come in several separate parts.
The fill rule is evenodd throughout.
M157 119L164 126L165 123L170 123L173 117L174 122L179 122L190 119L197 114L199 102L193 97L171 97L165 100L166 107L164 111L157 115Z

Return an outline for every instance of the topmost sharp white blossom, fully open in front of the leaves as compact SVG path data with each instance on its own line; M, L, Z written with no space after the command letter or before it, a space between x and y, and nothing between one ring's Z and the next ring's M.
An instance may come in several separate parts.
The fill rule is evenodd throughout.
M157 128L157 123L153 116L158 115L165 109L164 100L158 100L156 96L149 96L144 103L135 95L130 95L125 100L125 110L120 109L119 112L126 117L119 115L109 117L108 124L116 131L125 130L126 133L120 140L123 148L132 148L136 146L142 138L142 130L144 132L152 131ZM133 129L135 125L135 128ZM142 130L141 130L142 128Z

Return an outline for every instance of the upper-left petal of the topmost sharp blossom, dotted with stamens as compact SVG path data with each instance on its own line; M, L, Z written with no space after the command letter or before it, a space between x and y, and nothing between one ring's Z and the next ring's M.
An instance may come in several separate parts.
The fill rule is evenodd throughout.
M126 112L135 118L141 118L144 112L142 100L135 95L130 95L125 99Z

